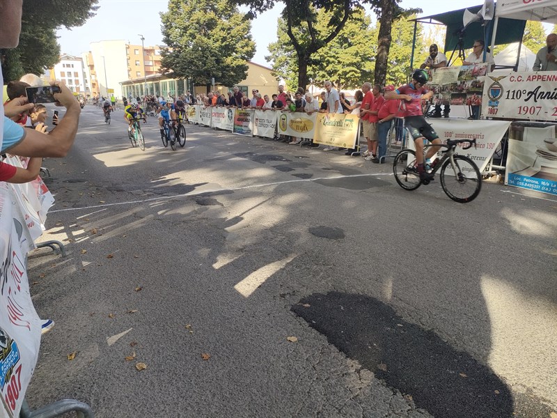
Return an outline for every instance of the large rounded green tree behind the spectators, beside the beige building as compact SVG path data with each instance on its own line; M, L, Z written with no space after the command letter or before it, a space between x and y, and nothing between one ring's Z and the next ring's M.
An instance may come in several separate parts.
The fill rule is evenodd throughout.
M245 15L228 0L170 0L161 13L162 71L195 84L232 86L246 78L256 44Z

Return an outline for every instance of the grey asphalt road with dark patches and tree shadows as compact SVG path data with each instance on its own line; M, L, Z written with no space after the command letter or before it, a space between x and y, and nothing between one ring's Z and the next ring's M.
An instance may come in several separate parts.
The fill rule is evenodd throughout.
M29 258L27 398L111 417L557 415L557 199L407 192L389 164L86 107ZM74 354L73 359L68 355ZM70 356L72 357L72 356ZM138 370L141 364L146 369Z

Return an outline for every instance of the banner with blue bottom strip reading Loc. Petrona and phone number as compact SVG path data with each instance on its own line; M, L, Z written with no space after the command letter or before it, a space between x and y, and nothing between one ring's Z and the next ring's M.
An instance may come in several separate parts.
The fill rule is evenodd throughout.
M557 124L512 123L505 185L557 196Z

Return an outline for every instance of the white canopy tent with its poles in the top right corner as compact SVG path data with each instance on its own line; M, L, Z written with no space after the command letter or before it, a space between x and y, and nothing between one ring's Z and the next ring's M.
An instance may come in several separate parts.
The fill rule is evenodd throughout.
M542 23L557 24L557 0L499 0L495 7L495 20L492 33L492 50L495 45L495 35L499 17L517 20L538 20ZM518 52L521 49L519 45L515 63L519 66Z

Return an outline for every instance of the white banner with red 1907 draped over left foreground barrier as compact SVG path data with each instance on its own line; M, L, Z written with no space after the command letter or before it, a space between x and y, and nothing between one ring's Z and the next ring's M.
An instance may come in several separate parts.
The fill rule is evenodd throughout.
M25 269L25 221L7 183L0 182L1 417L19 417L40 346L37 316Z

